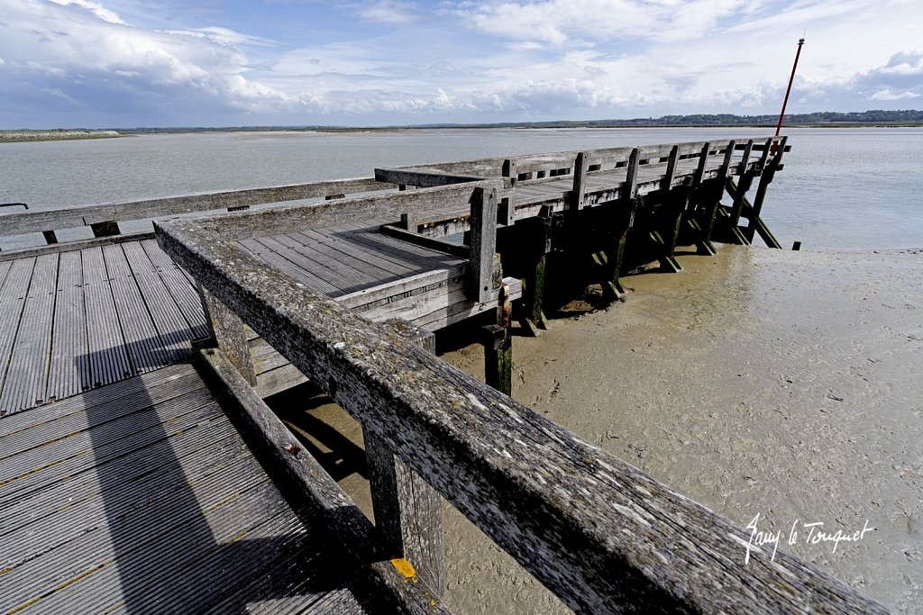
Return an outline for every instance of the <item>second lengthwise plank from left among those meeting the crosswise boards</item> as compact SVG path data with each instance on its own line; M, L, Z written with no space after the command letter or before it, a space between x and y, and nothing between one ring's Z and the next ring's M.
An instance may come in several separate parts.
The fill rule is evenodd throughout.
M58 265L54 336L48 365L46 399L77 395L92 386L87 310L83 300L83 262L80 252L63 252Z

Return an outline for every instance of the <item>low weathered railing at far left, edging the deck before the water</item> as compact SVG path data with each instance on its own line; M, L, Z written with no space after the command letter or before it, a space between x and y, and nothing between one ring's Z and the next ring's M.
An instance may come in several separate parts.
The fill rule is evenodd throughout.
M55 209L32 209L0 214L0 237L42 232L45 242L53 244L58 242L55 231L89 226L95 238L107 238L120 235L119 222L129 220L162 219L217 209L234 211L255 205L309 198L331 199L395 187L389 183L378 182L374 178L360 178ZM134 233L127 239L138 239L142 234L144 233ZM150 232L146 234L150 235Z

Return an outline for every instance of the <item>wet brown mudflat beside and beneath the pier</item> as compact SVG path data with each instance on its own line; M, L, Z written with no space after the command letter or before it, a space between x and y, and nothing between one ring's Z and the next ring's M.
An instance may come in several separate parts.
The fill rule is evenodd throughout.
M796 526L786 550L923 612L923 251L720 252L516 337L513 396L741 525ZM443 359L483 376L479 347ZM804 524L867 520L835 553L806 544ZM449 506L445 524L455 612L569 612Z

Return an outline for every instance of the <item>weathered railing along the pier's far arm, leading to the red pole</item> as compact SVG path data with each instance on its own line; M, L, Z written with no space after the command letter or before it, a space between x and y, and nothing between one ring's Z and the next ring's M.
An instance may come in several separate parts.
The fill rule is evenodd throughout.
M568 151L553 154L517 156L509 159L463 160L414 167L376 169L378 181L398 183L403 186L430 187L449 183L464 183L491 177L502 177L503 189L497 193L497 222L512 225L517 219L540 215L543 204L517 204L517 187L560 181L562 176L572 176L572 188L567 204L552 205L550 213L566 208L581 209L615 200L668 190L682 184L697 187L700 183L719 180L720 192L714 202L727 190L733 205L715 208L715 215L726 220L726 226L739 242L749 243L754 232L772 247L778 242L760 219L762 200L772 182L775 171L782 168L782 157L790 149L785 136L771 136L747 141L722 140L690 142L677 145L643 146L637 148L605 148L586 151ZM720 158L720 165L707 165L709 158ZM624 169L625 181L607 185L605 189L590 191L587 183L596 176L605 176ZM656 171L646 172L649 169ZM694 169L694 171L693 171ZM765 172L764 172L765 171ZM737 176L737 181L734 177ZM761 177L760 188L750 204L746 198L753 180ZM725 185L726 184L726 185ZM737 229L741 217L748 219L745 231ZM436 211L428 215L405 217L408 230L440 236L462 229L457 212ZM707 243L708 238L705 238Z

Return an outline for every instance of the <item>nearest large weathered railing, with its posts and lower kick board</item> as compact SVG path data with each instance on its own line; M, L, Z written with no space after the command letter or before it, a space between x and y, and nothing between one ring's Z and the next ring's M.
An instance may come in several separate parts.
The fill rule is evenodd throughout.
M413 207L402 198L460 189L378 204L396 219ZM785 552L773 557L749 530L439 361L419 347L425 336L370 323L234 244L367 207L358 199L174 219L156 231L222 314L210 344L217 348L202 350L203 370L267 463L298 486L290 495L303 496L344 548L369 563L382 597L407 612L444 612L439 506L428 485L580 612L887 612ZM243 322L362 424L374 528L228 361Z

